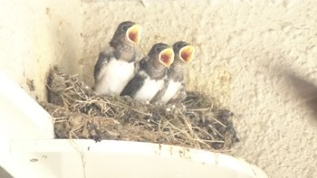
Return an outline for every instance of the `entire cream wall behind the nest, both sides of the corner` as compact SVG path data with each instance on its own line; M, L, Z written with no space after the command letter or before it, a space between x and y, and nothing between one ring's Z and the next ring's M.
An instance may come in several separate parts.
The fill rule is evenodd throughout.
M92 85L99 49L118 23L135 21L143 54L155 42L197 47L187 86L235 111L233 155L270 177L317 177L317 105L308 102L317 97L317 1L23 2L0 7L0 69L24 89L33 79L34 98L44 98L54 63Z

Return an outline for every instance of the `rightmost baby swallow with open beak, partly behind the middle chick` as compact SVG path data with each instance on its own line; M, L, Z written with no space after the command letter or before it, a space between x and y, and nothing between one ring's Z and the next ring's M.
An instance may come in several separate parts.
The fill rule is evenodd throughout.
M152 103L177 103L186 98L183 84L185 66L194 58L194 47L187 42L176 42L173 45L175 61L168 69L163 89L152 98Z

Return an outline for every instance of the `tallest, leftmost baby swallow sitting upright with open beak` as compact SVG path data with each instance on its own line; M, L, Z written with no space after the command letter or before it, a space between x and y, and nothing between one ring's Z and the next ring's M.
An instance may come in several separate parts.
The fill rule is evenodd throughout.
M136 46L140 40L139 24L120 23L110 48L100 52L94 66L94 87L99 95L120 95L137 72Z

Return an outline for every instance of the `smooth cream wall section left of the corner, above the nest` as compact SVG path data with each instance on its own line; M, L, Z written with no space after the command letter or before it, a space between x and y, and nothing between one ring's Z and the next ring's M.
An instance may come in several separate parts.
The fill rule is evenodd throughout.
M34 98L45 99L47 71L62 64L78 73L82 15L78 0L7 0L0 6L0 70Z

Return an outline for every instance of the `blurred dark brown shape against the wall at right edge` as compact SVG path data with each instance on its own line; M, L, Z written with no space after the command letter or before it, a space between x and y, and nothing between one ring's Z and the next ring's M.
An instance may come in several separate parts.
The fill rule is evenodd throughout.
M303 98L308 108L312 108L315 117L313 125L317 126L317 86L293 74L288 74L287 79L291 81L293 89Z

